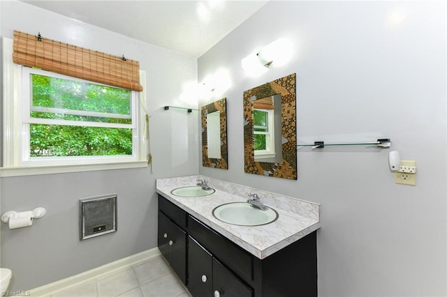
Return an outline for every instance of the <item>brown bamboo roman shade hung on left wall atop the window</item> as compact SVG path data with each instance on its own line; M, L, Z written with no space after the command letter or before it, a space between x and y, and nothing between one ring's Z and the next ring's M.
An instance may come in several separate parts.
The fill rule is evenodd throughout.
M20 31L14 31L13 50L13 61L20 65L132 91L142 91L138 61Z

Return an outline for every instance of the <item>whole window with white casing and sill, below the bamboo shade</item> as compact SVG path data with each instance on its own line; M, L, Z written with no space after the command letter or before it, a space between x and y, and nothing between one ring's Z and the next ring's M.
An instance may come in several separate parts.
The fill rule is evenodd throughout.
M145 105L143 93L12 61L7 69L3 167L40 174L52 173L49 167L66 172L147 165L145 117L139 108ZM23 175L5 172L2 168L2 176Z

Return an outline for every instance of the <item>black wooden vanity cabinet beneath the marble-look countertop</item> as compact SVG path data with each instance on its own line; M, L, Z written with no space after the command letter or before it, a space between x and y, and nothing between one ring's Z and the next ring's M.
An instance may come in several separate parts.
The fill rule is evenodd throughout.
M318 295L316 231L261 260L159 196L159 250L194 297Z

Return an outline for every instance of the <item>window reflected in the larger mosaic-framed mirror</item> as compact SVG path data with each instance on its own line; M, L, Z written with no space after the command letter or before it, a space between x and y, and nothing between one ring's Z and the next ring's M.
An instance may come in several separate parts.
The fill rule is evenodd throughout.
M274 109L254 109L253 146L255 158L274 156Z

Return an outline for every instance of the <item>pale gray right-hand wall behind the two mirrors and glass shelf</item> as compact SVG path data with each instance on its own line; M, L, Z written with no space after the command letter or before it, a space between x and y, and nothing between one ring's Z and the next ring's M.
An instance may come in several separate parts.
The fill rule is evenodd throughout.
M241 59L280 37L292 60L247 77ZM219 68L233 82L228 171L199 172L321 203L319 295L446 296L445 1L270 1L198 59L199 82ZM302 149L298 181L244 174L242 92L290 73L299 142L383 136L392 148ZM394 183L390 150L416 160L416 187Z

